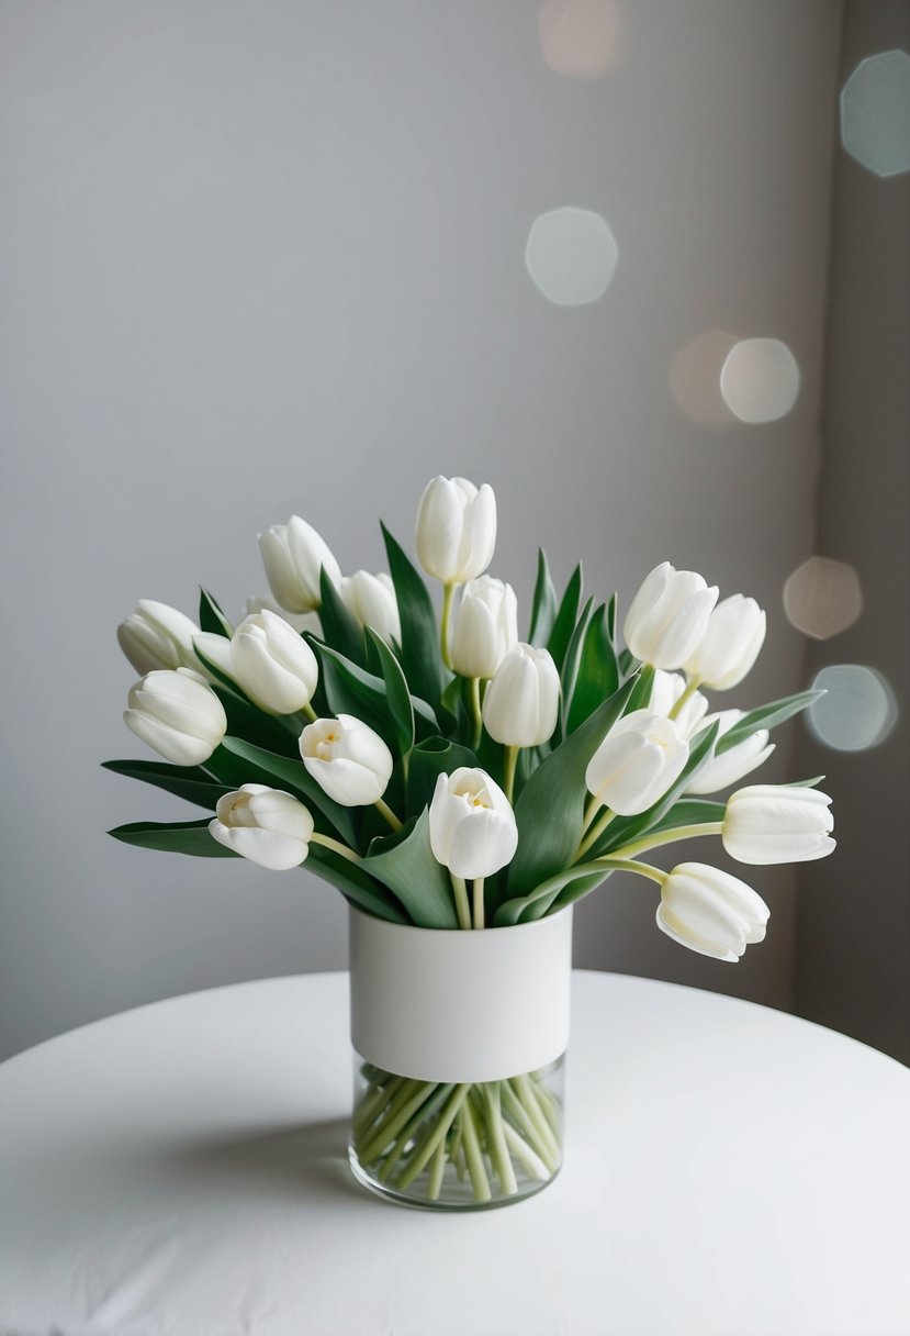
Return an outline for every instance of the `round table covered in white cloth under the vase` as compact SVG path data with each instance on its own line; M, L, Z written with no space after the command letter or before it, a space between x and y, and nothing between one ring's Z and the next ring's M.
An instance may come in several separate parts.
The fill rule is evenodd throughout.
M346 1160L347 975L196 993L0 1067L3 1336L910 1332L910 1073L576 973L566 1165L431 1214Z

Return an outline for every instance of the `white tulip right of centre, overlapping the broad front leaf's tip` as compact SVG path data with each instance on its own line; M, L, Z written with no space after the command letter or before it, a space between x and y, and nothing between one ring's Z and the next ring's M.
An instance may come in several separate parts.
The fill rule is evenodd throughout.
M618 816L634 816L663 798L687 760L689 743L671 719L634 709L603 739L584 771L584 783Z

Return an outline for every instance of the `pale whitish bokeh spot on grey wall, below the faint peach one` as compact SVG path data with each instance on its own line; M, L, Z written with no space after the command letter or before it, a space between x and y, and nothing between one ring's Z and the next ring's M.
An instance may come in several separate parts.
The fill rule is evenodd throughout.
M604 218L590 208L555 208L531 224L527 271L556 306L583 306L603 297L619 251Z

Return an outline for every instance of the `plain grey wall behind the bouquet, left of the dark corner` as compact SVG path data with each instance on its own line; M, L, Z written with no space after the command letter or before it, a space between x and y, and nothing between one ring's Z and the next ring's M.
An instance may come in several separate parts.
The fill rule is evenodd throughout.
M590 591L626 607L668 558L769 609L718 708L829 661L782 591L818 552L862 565L875 528L870 500L858 548L835 518L817 530L829 303L854 318L847 234L829 289L841 4L4 0L0 27L0 1055L169 994L343 967L343 902L306 871L104 834L195 815L99 768L143 754L117 621L139 597L193 613L199 582L239 615L264 592L256 533L292 512L346 572L375 570L378 514L410 546L431 476L488 481L492 573L524 608L538 544L560 582L584 557ZM803 778L803 729L779 731L769 780ZM843 796L831 783L845 824L846 784L877 787L883 755L845 763ZM814 870L817 931L793 868L754 871L771 931L737 969L674 946L619 876L579 907L576 962L859 1033L862 1009L830 1006L847 947L826 951L822 900L871 925L875 886L861 907L853 864Z

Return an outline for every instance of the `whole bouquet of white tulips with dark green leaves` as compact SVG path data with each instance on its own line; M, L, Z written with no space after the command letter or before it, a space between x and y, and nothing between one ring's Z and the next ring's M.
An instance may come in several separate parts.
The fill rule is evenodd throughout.
M769 731L817 695L710 712L706 692L737 687L762 647L757 603L718 601L702 576L663 562L628 608L623 648L615 596L584 601L578 566L559 599L540 552L519 641L515 593L486 573L496 538L488 485L439 477L420 500L416 554L442 585L439 617L415 565L383 536L388 574L343 577L298 516L270 529L259 541L275 601L258 600L236 628L205 592L199 625L139 604L119 629L143 673L124 720L164 760L108 768L213 816L111 834L276 871L306 863L358 910L438 930L527 923L631 872L656 883L658 926L690 950L733 962L759 942L769 910L743 880L643 859L705 835L753 864L834 847L830 799L814 780L709 796L761 766ZM410 1141L383 1136L402 1101L399 1088L383 1102L388 1081L371 1075L363 1137L387 1168L398 1148L394 1169L407 1177L420 1122ZM502 1161L500 1129L480 1117L492 1104L478 1101L472 1121ZM504 1106L496 1097L495 1117ZM538 1112L548 1112L543 1098ZM551 1164L540 1120L515 1117L510 1146L526 1137L536 1164Z

